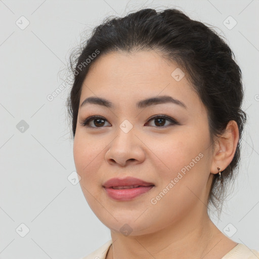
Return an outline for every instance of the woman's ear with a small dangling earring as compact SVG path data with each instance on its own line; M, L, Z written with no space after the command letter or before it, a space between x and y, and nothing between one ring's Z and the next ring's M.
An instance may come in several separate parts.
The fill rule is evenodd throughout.
M231 163L237 148L239 139L238 125L236 121L229 121L225 132L218 138L215 143L215 149L212 157L210 168L211 174L218 174L220 167L223 171Z

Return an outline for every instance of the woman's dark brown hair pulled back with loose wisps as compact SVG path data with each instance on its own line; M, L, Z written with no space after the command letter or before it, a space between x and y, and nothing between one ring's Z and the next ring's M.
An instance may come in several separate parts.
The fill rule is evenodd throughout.
M159 52L161 57L175 62L185 72L207 109L213 147L214 141L224 132L228 122L237 122L239 142L234 158L221 173L221 181L219 175L213 176L208 197L208 205L214 205L219 210L240 160L240 140L246 122L246 113L241 109L242 75L232 50L221 36L213 28L190 19L182 11L166 9L157 12L154 9L142 9L122 18L108 17L94 28L92 35L83 41L80 50L72 53L70 66L74 77L67 107L73 137L82 82L89 68L106 53L142 50ZM98 55L94 55L98 52ZM87 59L91 61L86 62Z

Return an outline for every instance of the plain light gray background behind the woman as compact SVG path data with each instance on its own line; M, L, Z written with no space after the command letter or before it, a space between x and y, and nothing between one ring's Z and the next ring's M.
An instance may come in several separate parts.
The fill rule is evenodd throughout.
M258 0L3 0L0 258L78 259L110 239L109 229L89 208L79 184L68 180L75 171L65 107L69 88L52 101L47 96L66 80L69 54L86 28L90 33L106 16L124 16L142 6L176 7L192 19L217 26L236 56L243 72L248 122L237 182L222 217L212 214L212 220L232 240L259 250ZM224 24L234 25L229 16L237 22L231 29ZM27 21L29 25L21 28ZM21 224L29 229L27 234Z

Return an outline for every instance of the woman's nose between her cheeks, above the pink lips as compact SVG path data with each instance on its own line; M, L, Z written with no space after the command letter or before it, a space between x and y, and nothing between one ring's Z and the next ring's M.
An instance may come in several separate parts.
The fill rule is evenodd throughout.
M143 142L135 135L134 129L125 133L120 128L110 148L105 154L106 161L111 165L126 166L128 164L139 164L145 159Z

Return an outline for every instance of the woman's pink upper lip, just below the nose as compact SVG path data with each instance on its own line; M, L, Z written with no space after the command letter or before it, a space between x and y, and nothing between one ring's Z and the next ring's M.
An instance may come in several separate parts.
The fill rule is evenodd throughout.
M112 188L112 189L132 189L138 188L140 186L154 186L153 183L145 182L141 179L134 178L134 177L126 177L123 179L119 178L111 178L103 184L105 188Z

